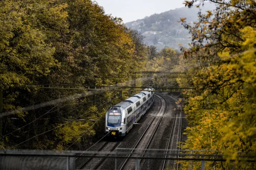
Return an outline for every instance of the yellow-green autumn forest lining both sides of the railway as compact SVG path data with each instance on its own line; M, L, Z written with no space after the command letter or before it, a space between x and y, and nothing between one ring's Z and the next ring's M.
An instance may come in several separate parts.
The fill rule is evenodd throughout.
M256 154L256 2L210 1L216 9L199 12L197 21L181 18L192 37L182 53L145 45L139 31L106 15L91 0L0 1L2 112L16 110L0 118L0 148L86 149L103 136L106 110L131 95L33 84L132 85L130 79L102 76L172 69L197 74L168 80L195 88L183 93L189 127L181 148L220 150L227 160L236 160L235 169L253 169L243 156ZM204 0L185 3L201 8ZM156 79L138 80L136 85L150 83L167 86ZM21 109L56 99L58 103ZM193 168L200 164L194 162ZM188 169L189 162L182 165ZM232 166L206 162L207 169Z

